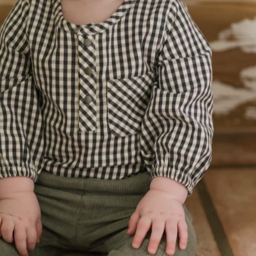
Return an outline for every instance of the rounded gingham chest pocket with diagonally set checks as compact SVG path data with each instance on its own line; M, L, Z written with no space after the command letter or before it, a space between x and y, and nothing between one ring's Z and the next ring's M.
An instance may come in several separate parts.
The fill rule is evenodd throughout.
M133 78L107 81L108 125L115 136L141 131L153 84L154 71Z

